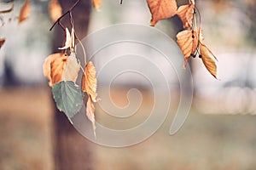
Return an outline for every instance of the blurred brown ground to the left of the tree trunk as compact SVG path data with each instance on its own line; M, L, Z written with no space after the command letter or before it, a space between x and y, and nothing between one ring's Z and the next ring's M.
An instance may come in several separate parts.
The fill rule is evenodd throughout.
M49 89L0 90L0 169L53 169Z

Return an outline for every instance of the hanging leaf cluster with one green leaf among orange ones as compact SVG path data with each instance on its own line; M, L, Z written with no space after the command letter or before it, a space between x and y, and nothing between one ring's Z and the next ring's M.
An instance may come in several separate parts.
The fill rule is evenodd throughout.
M49 79L52 94L57 108L63 111L71 123L71 118L82 108L87 94L86 115L90 119L95 132L96 102L96 68L91 61L85 64L84 69L77 57L75 48L75 31L71 33L66 27L66 40L61 53L50 54L44 61L44 76ZM84 55L84 60L86 57ZM76 84L79 71L83 71L82 88Z

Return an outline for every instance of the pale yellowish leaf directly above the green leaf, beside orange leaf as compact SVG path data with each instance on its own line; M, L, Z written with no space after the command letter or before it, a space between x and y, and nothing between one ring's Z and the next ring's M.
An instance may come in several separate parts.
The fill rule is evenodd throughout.
M77 59L76 54L72 51L68 56L67 65L63 71L62 80L63 81L73 81L76 82L79 76L80 62Z

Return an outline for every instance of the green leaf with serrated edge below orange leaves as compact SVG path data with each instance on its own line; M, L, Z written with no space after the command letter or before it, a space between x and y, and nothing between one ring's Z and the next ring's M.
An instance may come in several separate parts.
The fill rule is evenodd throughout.
M71 117L80 111L84 105L84 92L73 81L62 81L55 83L52 94L58 110L63 111L73 124Z

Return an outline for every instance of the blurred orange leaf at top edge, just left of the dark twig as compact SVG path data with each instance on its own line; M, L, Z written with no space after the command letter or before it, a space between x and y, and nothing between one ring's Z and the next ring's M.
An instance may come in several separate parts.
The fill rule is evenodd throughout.
M61 17L62 8L58 0L50 0L48 8L49 8L49 16L52 21L55 22Z

